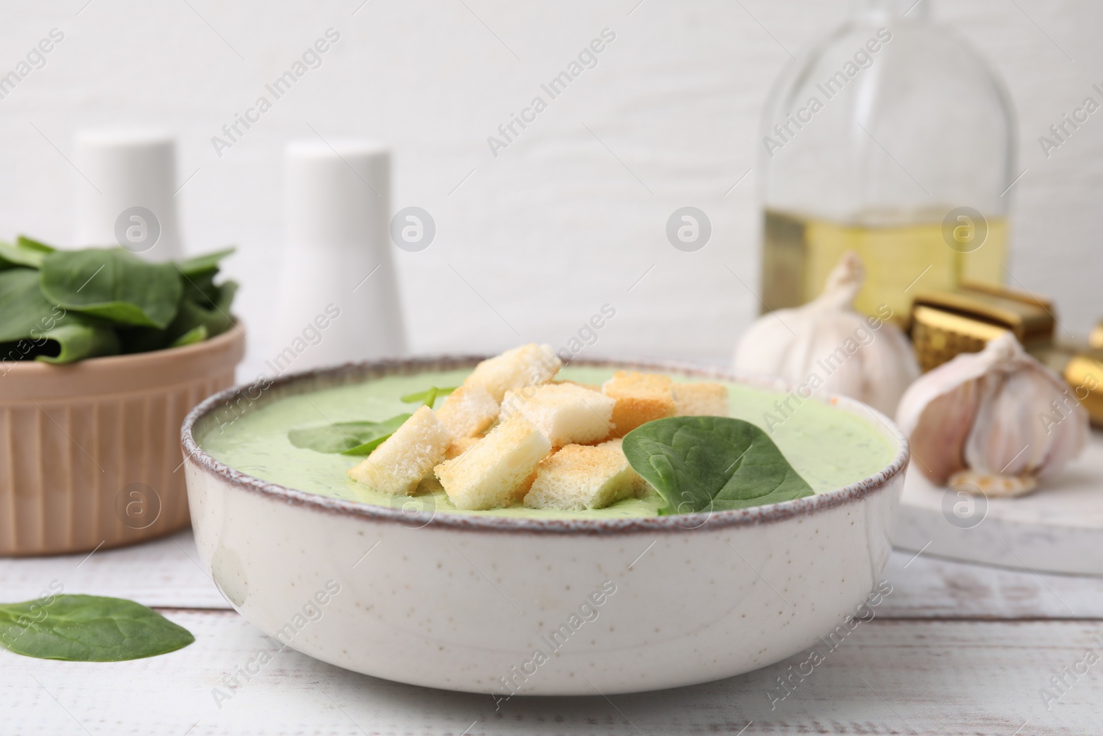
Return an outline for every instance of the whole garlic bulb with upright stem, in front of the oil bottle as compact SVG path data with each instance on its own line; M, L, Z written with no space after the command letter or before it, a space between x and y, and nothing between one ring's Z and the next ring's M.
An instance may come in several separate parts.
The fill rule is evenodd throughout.
M854 310L866 280L861 260L847 253L813 301L760 317L743 333L732 367L740 373L777 375L796 384L800 398L820 393L853 396L888 415L919 376L911 343L886 320Z

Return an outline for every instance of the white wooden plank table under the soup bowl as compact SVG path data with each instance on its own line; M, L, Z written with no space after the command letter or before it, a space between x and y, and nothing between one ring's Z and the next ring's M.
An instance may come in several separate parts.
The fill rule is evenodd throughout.
M1100 551L1103 554L1103 551ZM805 655L706 685L609 698L513 698L401 685L287 650L216 704L212 690L271 644L231 610L191 533L137 547L0 559L3 600L53 579L67 593L131 598L195 643L118 663L0 650L0 734L1100 734L1103 661L1047 710L1041 690L1088 650L1103 657L1103 578L897 552L892 593L791 695L767 695ZM1094 637L1099 637L1096 640Z

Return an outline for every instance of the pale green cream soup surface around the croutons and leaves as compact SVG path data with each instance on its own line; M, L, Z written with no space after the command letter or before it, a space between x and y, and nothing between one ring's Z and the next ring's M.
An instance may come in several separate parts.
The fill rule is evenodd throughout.
M328 455L295 447L287 437L290 429L325 425L330 422L383 420L409 413L416 404L404 404L399 396L429 386L456 386L470 373L442 371L417 375L395 375L366 383L325 388L298 396L286 396L212 423L196 437L200 446L226 465L263 480L300 491L361 501L406 511L425 510L491 516L592 518L654 516L663 505L657 493L646 499L625 499L606 509L556 511L514 505L492 511L461 511L453 506L437 484L432 492L395 498L379 493L349 478L346 471L363 458ZM566 367L560 378L600 384L612 370ZM674 376L675 381L684 381ZM765 428L769 412L780 418L774 402L783 394L727 384L730 416ZM437 406L440 405L440 399ZM796 407L795 403L791 406ZM771 438L790 465L816 493L823 493L872 476L892 459L896 448L865 419L817 402L804 402L791 416L774 427Z

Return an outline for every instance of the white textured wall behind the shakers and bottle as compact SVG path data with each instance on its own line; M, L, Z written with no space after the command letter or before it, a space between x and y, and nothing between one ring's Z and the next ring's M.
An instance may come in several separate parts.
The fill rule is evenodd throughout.
M758 288L754 172L725 192L756 164L759 110L789 58L779 43L800 55L848 4L370 0L353 15L361 0L188 1L6 3L3 71L51 28L65 41L0 100L0 235L72 236L73 191L86 184L32 122L66 156L79 127L174 130L181 180L199 169L180 194L188 249L240 245L228 269L245 282L249 374L269 350L281 148L312 136L308 124L323 136L390 141L395 209L416 204L436 217L430 248L396 253L414 350L516 343L484 298L525 340L563 344L608 302L617 317L593 354L725 359L758 307L740 284ZM1049 159L1037 138L1103 84L1103 4L923 1L1011 93L1019 168L1029 169L1013 190L1011 271L1056 297L1062 324L1083 332L1103 317L1103 117ZM217 158L211 136L329 26L342 39L322 67ZM607 26L617 40L598 66L495 159L486 137ZM664 236L686 204L714 227L693 254Z

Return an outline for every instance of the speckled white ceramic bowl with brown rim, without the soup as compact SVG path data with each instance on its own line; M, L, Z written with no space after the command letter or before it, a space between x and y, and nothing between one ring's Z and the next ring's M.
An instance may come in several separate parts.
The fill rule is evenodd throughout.
M784 503L653 519L403 513L253 478L194 439L280 396L478 360L344 365L224 391L192 410L182 442L195 541L237 611L293 649L387 680L592 695L771 664L854 615L878 582L908 444L853 399L831 403L876 416L897 447L876 476ZM676 364L614 365L785 390Z

